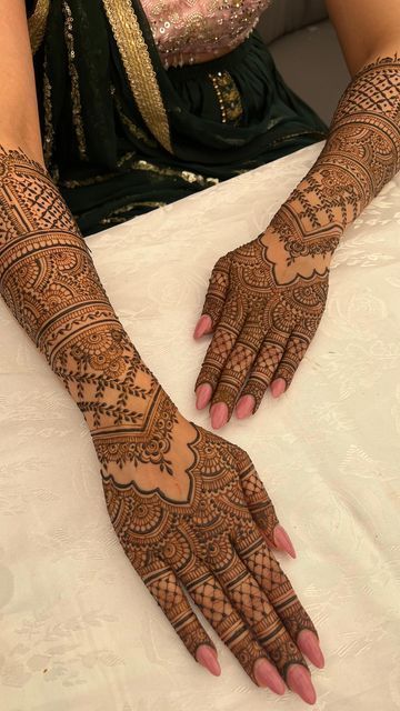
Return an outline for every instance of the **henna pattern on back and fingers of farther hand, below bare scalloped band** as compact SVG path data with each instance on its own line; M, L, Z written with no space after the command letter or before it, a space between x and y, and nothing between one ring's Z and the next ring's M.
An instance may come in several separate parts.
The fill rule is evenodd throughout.
M307 277L297 274L288 283L278 283L264 234L227 257L229 300L243 317L238 320L223 312L196 389L210 383L212 402L226 402L229 413L239 394L251 394L256 411L273 377L290 384L322 317L329 269L322 268L322 273L313 269ZM222 301L220 279L212 281L210 297L211 303Z

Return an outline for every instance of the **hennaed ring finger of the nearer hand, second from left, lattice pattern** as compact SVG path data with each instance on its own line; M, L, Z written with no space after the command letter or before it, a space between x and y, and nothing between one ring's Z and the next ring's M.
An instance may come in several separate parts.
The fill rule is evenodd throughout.
M238 659L250 679L258 685L266 681L270 662L240 614L233 609L221 584L206 563L197 559L179 577L193 602L213 627L220 639ZM260 661L261 660L261 661ZM268 668L264 675L266 665Z

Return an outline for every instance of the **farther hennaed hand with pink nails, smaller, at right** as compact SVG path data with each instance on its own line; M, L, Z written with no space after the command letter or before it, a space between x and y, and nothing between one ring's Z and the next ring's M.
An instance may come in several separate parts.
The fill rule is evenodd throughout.
M330 240L293 238L277 216L257 239L212 270L194 338L212 332L196 382L197 407L211 424L256 412L268 385L288 389L317 331L327 296Z

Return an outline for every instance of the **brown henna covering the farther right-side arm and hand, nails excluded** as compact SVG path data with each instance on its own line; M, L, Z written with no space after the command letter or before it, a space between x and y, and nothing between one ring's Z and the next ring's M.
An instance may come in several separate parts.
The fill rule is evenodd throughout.
M400 168L400 60L360 69L327 142L266 232L216 264L202 313L214 336L196 382L230 417L240 395L253 412L272 380L290 385L318 329L341 236ZM229 304L229 306L228 306Z

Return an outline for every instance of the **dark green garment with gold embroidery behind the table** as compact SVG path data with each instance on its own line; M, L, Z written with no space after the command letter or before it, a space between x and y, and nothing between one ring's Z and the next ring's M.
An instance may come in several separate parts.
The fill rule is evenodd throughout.
M31 38L46 4L32 41L44 158L86 236L327 137L257 32L167 71L137 0L38 0Z

